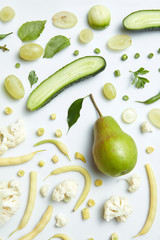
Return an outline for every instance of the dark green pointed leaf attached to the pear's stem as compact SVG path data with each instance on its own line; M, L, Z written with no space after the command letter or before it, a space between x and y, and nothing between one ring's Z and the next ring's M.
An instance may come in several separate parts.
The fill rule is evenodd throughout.
M82 108L83 100L85 98L79 98L74 101L68 109L67 123L68 131L77 122L80 117L80 110Z

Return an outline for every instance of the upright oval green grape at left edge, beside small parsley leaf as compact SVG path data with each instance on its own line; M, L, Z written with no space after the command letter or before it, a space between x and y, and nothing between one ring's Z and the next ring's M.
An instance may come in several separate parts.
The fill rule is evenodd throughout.
M7 92L15 99L24 97L25 90L22 82L15 75L9 75L4 81Z

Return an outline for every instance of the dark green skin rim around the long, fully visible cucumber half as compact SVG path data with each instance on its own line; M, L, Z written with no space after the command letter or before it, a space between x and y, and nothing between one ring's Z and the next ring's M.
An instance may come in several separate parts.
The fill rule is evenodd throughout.
M90 56L85 56L85 57L90 57ZM85 58L85 57L82 57L82 58ZM91 56L91 57L96 57L96 56ZM73 62L75 62L75 61L77 61L77 60L79 60L79 59L82 59L82 58L78 58L78 59L70 62L69 64L66 64L64 67L60 68L60 69L57 70L55 73L57 73L58 71L60 71L60 70L62 70L63 68L65 68L66 66L68 66L68 65L70 65L71 63L73 63ZM102 59L104 60L104 65L103 65L103 67L102 67L101 69L99 69L97 72L94 72L94 73L92 73L92 74L90 74L90 75L87 75L87 76L85 76L85 77L79 78L79 79L75 80L74 82L66 85L66 86L63 87L63 88L61 88L58 92L56 92L55 94L53 94L53 95L52 95L50 98L48 98L44 103L42 103L41 106L38 106L37 108L34 108L34 109L29 108L29 106L28 106L28 101L29 101L30 96L36 91L36 89L37 89L41 84L43 84L45 81L47 81L47 80L48 80L53 74L55 74L55 73L53 73L52 75L50 75L47 79L45 79L44 81L42 81L42 82L31 92L31 94L29 95L28 101L27 101L27 108L28 108L30 111L38 110L38 109L44 107L47 103L49 103L53 98L55 98L58 94L60 94L61 92L63 92L63 91L64 91L65 89L67 89L68 87L74 85L75 83L78 83L78 82L80 82L80 81L83 81L83 80L85 80L85 79L88 79L88 78L90 78L90 77L94 77L94 76L96 76L98 73L102 72L102 71L106 68L107 63L106 63L106 60L105 60L103 57L100 57L100 56L99 56L99 58L102 58Z

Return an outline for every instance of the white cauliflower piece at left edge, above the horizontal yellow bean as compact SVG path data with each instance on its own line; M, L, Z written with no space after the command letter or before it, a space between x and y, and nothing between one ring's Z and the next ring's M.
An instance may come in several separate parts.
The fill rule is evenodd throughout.
M0 128L0 155L5 153L8 148L16 147L26 138L24 122L19 119L17 122Z

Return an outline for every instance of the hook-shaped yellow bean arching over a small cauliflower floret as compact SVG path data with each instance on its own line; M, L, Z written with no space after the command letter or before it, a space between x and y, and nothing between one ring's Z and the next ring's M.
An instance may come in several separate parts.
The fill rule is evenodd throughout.
M65 172L70 172L70 171L80 172L85 178L85 187L84 187L83 193L81 194L80 198L78 199L78 201L77 201L77 203L76 203L76 205L73 209L73 211L76 211L81 206L81 204L84 202L84 200L86 199L86 197L89 193L89 190L90 190L90 187L91 187L91 176L90 176L89 172L81 166L73 165L73 166L66 166L66 167L57 168L57 169L53 170L48 175L48 177L51 176L51 175L57 175L57 174L60 174L60 173L65 173ZM45 179L47 179L48 177L46 177Z

